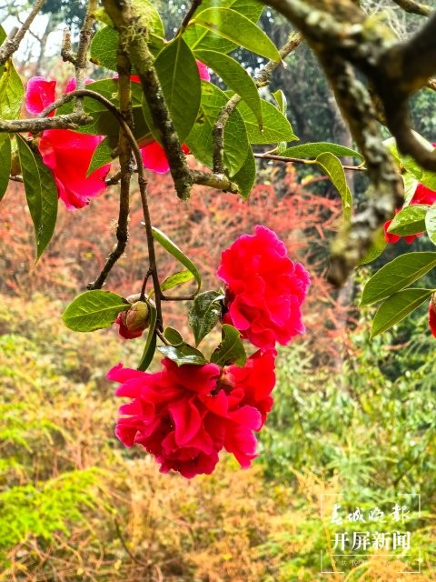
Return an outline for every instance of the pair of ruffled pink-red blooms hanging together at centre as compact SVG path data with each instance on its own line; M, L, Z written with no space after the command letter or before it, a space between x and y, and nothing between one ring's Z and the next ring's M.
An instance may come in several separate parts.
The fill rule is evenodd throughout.
M121 385L117 396L131 398L120 407L116 436L126 447L142 445L163 473L209 475L222 449L250 467L254 433L272 407L275 343L288 344L304 331L309 274L272 230L256 226L253 235L240 236L223 252L218 275L226 287L223 322L259 347L244 366L178 367L164 358L154 374L120 364L107 375Z

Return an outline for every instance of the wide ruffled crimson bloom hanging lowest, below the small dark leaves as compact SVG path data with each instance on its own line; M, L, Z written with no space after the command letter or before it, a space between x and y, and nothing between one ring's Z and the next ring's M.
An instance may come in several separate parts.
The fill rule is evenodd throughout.
M132 398L120 407L115 435L126 447L142 445L162 473L209 475L223 447L249 467L257 457L253 431L272 406L275 355L267 350L243 368L224 370L215 364L178 367L168 358L155 374L114 366L107 378L121 384L115 394Z

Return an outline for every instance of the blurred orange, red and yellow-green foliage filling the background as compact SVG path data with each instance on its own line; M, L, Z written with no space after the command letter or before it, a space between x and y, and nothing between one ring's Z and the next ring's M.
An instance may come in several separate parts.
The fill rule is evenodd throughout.
M0 17L19 16L30 4L0 5ZM155 5L171 34L186 3ZM401 36L420 24L387 0L366 5ZM52 45L64 23L76 34L82 11L79 0L45 3L45 19L34 31L38 40L20 56L24 78L44 74L62 81L72 73L65 73ZM282 20L265 10L262 22L282 45L289 33ZM243 51L239 57L252 71L262 64ZM272 90L288 96L302 142L352 146L307 48L300 46L287 65L277 70ZM411 112L431 141L433 95L417 94ZM348 178L359 195L364 180ZM399 574L408 569L401 553L388 563L370 556L345 575L332 561L333 582L435 580L435 340L425 308L369 340L374 310L357 305L372 267L362 267L339 293L326 285L340 201L310 168L260 166L248 204L203 188L189 205L176 203L168 176L151 176L150 195L155 224L200 266L204 289L219 285L222 249L259 223L274 229L292 259L311 272L307 333L280 350L260 457L242 471L223 455L212 477L186 481L160 475L139 447L118 443L120 401L104 376L119 361L134 366L142 342L122 341L114 329L74 334L59 317L114 244L116 189L80 211L60 208L54 240L34 266L24 193L11 184L0 214L0 580L318 582L325 579L321 552L329 565L333 553L334 529L322 500L338 493L349 510L421 493L421 519L410 529L411 558L416 563L421 552L422 572ZM108 281L124 296L139 291L147 266L141 219L134 192L132 242ZM409 248L431 245L421 237L412 247L388 246L377 266ZM173 272L171 257L162 254L159 261L162 277ZM189 335L183 306L171 306L165 316L167 325Z

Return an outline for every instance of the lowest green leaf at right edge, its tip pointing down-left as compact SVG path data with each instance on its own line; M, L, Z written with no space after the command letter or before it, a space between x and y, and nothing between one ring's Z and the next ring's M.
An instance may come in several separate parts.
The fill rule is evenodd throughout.
M434 289L404 289L384 301L372 322L371 336L378 336L411 314L431 297Z

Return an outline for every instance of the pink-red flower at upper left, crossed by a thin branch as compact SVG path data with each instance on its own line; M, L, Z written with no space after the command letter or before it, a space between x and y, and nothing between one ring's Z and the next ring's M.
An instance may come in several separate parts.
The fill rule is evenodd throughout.
M54 103L55 85L55 81L46 81L43 77L29 79L25 95L27 111L38 114ZM65 92L74 91L74 88L75 79L70 79ZM52 170L58 195L69 210L86 206L91 197L104 191L104 178L110 164L86 177L95 147L103 139L100 135L79 134L70 129L48 129L39 140L45 166Z

